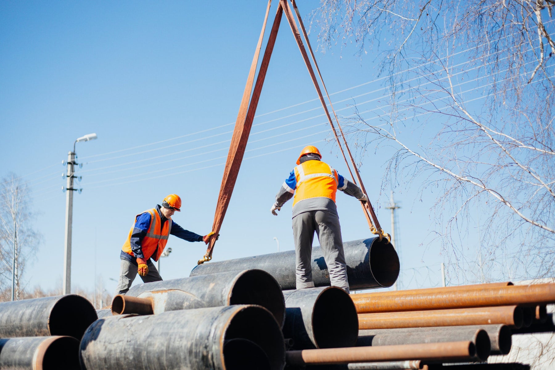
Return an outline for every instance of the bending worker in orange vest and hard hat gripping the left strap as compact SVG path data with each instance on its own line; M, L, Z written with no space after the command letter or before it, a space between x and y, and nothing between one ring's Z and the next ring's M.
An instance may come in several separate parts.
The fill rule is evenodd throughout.
M181 211L181 198L176 194L170 194L164 198L162 206L157 205L135 216L135 224L129 230L119 255L122 262L116 294L127 293L137 273L145 283L162 280L150 259L158 261L170 235L186 241L204 241L204 244L208 244L214 232L201 236L183 229L171 219L175 211Z

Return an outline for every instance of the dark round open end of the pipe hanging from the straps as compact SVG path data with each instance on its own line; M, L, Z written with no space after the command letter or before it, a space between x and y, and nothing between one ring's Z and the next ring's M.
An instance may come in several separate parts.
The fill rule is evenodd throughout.
M369 263L372 275L380 286L387 288L395 284L401 265L395 248L385 238L372 241Z

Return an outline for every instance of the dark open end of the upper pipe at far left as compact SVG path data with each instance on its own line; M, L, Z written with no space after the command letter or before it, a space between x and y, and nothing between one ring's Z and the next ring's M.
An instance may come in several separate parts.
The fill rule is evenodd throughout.
M48 328L53 336L70 336L80 340L96 320L97 311L87 298L70 294L60 298L52 308Z

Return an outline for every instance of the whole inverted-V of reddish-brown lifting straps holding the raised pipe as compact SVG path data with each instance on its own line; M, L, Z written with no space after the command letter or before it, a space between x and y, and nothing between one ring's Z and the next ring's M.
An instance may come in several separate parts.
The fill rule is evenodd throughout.
M312 52L312 48L310 47L309 39L308 39L308 36L306 34L306 29L304 27L304 24L302 23L302 19L301 19L300 14L299 14L299 9L297 8L296 3L295 3L294 0L291 0L291 2L292 2L293 6L295 8L297 19L299 20L299 24L301 25L301 29L302 29L304 38L306 39L306 43L307 43L307 46L309 47L310 54L312 56L312 60L314 61L314 65L316 66L316 70L318 71L318 75L319 75L320 80L322 82L322 86L324 87L324 90L326 92L327 99L330 102L330 106L331 106L332 111L334 113L335 120L337 122L337 126L339 127L339 130L341 132L341 136L343 138L345 148L347 149L347 153L349 154L349 158L350 158L351 163L354 167L356 178L359 180L358 184L361 187L362 191L364 191L364 193L367 194L366 190L364 188L364 184L362 184L362 179L360 178L359 171L356 168L355 160L351 155L351 151L349 150L349 146L347 145L345 135L343 134L343 130L341 129L341 125L339 124L339 120L337 119L337 114L335 113L333 105L331 104L330 96L327 93L327 89L325 87L324 80L322 79L322 75L320 74L320 69L318 68L318 65L316 63L316 58L314 57L314 52ZM225 212L227 211L228 206L229 206L229 201L231 199L231 194L233 193L233 189L235 187L235 181L237 179L237 175L239 174L239 168L241 166L241 161L243 161L243 155L245 154L246 143L247 143L247 140L249 138L251 126L253 125L253 119L254 119L254 115L256 113L256 107L258 107L258 101L259 101L260 93L261 93L261 90L262 90L262 87L263 87L263 84L264 84L264 79L266 77L266 72L268 72L268 65L270 63L270 57L271 57L272 51L274 49L275 40L276 40L276 37L278 36L278 30L279 30L279 25L280 25L280 22L281 22L281 16L284 12L285 12L285 17L287 18L287 22L289 22L289 25L291 27L291 31L293 32L293 34L295 36L295 40L297 42L297 45L299 46L300 52L302 54L302 58L305 61L306 68L309 70L310 77L312 79L312 83L314 83L314 87L316 88L316 92L318 93L318 96L320 98L320 102L322 103L322 107L324 108L324 111L325 111L327 119L330 123L331 129L334 132L335 139L337 140L337 144L339 145L339 148L341 150L341 154L343 155L343 158L345 159L345 163L347 165L347 168L349 169L349 173L351 174L351 178L354 181L354 183L357 184L357 181L355 180L355 177L352 174L352 171L351 171L351 168L350 168L350 165L349 165L349 161L347 161L347 158L346 158L345 153L343 151L341 141L339 139L339 135L337 135L337 131L335 129L334 123L331 119L329 111L327 110L327 105L324 101L324 97L323 97L322 92L320 90L320 86L319 86L319 84L316 80L316 75L314 73L314 70L312 69L312 65L311 65L310 59L309 59L309 57L306 53L306 49L304 47L304 44L302 43L302 39L301 39L301 36L300 36L300 33L299 33L299 29L297 28L297 24L295 23L293 13L291 11L291 8L289 7L289 4L287 4L287 0L279 0L278 11L276 12L276 15L275 15L275 18L274 18L274 24L272 26L270 36L268 38L268 44L266 45L266 49L265 49L265 52L264 52L264 57L262 59L262 62L260 63L260 69L259 69L259 72L258 72L258 76L256 77L256 83L255 83L254 89L253 89L253 81L254 81L254 75L255 75L255 72L256 72L256 65L258 64L258 57L260 55L260 49L261 49L262 40L263 40L263 37L264 37L266 22L268 21L268 14L269 14L269 11L270 11L270 5L271 5L271 0L268 1L268 7L266 8L266 16L264 18L264 24L263 24L263 27L262 27L262 31L260 32L260 37L259 37L259 40L258 40L258 44L256 45L256 50L255 50L253 62L251 63L251 67L250 67L250 71L249 71L249 77L247 79L247 82L246 82L246 85L245 85L245 90L243 92L243 98L241 99L241 105L239 107L239 114L237 115L237 119L235 121L235 129L233 131L233 136L231 137L231 144L230 144L230 148L229 148L229 152L228 152L228 159L226 160L226 163L225 163L224 175L223 175L223 178L221 180L221 185L220 185L220 194L218 195L218 204L216 205L216 211L215 211L215 214L214 214L214 223L213 223L213 226L212 226L212 231L214 231L214 235L210 237L208 249L206 249L206 254L204 255L204 257L198 261L199 265L201 263L204 263L206 261L210 261L212 259L212 252L214 250L214 245L215 245L215 242L216 242L216 236L219 234L221 224L224 220ZM251 92L252 92L252 97L251 97ZM249 102L249 100L250 100L250 102ZM368 222L368 225L370 227L370 231L373 234L377 234L380 237L380 240L384 236L387 237L388 240L391 240L391 237L389 236L389 234L384 234L384 231L381 229L380 223L377 220L376 214L374 212L374 208L370 204L370 201L361 202L361 205L362 205L362 210L364 211L364 214L366 216L366 220ZM374 226L374 224L372 224L372 220L374 220L374 224L376 226Z

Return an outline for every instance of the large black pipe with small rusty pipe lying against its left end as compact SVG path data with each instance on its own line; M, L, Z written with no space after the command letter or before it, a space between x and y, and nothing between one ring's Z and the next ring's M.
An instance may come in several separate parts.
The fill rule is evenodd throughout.
M285 320L285 302L278 282L263 270L243 270L144 283L130 288L127 296L152 301L154 313L229 305L259 305L267 308L280 325ZM125 296L112 302L114 314L123 313ZM129 308L125 313L139 313Z

